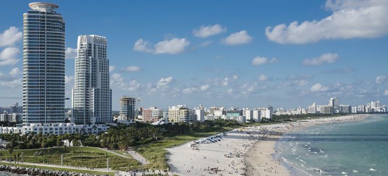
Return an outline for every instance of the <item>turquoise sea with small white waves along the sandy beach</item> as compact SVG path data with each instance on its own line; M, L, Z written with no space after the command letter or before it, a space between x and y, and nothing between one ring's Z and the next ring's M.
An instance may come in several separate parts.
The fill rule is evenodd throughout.
M292 175L388 175L388 115L304 128L277 148Z

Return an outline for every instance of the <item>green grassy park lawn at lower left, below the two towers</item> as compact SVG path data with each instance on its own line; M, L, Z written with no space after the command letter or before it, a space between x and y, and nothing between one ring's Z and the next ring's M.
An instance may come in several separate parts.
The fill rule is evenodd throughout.
M69 166L105 168L107 158L109 158L110 167L115 170L138 168L138 165L140 165L135 159L117 156L94 147L66 147L66 153L63 147L14 150L11 155L8 153L8 150L2 150L0 152L3 153L3 159L13 159L14 153L24 152L24 161L33 163L60 165L61 154L63 154L63 165ZM43 155L34 156L35 152L43 152Z

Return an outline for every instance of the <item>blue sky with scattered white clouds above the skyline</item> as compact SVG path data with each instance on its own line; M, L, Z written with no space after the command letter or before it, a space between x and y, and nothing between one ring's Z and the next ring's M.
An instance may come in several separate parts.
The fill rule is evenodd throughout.
M22 96L22 15L31 2L4 1L0 11L0 96ZM386 1L50 3L66 21L67 97L77 36L96 34L108 39L113 110L124 95L159 108L387 102Z

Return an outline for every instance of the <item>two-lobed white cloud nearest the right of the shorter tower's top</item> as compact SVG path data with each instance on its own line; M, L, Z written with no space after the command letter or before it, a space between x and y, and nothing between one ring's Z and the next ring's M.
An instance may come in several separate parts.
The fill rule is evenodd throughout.
M180 54L190 44L185 38L172 38L158 42L155 46L149 41L139 39L135 42L134 51L153 54Z

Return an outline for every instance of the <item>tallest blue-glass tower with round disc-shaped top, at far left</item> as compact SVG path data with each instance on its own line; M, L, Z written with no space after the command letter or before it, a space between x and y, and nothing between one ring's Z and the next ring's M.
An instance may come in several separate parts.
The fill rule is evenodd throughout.
M23 125L64 122L64 21L57 5L23 14Z

